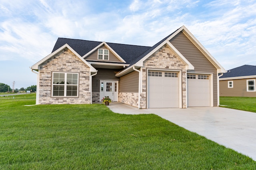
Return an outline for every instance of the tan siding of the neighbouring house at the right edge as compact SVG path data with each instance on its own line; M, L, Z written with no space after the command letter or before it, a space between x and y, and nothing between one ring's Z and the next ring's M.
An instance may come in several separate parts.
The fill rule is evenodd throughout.
M256 92L247 92L246 80L256 78L220 80L220 96L256 97ZM233 81L233 88L228 88L228 81Z

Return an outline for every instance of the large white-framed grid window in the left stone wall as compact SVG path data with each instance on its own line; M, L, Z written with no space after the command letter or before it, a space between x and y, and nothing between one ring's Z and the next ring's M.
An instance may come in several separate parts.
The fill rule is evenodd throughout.
M78 73L52 73L52 96L78 96Z

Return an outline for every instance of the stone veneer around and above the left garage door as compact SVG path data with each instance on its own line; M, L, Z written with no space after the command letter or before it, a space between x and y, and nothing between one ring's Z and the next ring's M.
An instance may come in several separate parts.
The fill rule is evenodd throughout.
M160 68L182 70L182 107L186 108L186 65L166 45L143 62L142 67L142 93L140 94L140 107L146 108L146 68Z

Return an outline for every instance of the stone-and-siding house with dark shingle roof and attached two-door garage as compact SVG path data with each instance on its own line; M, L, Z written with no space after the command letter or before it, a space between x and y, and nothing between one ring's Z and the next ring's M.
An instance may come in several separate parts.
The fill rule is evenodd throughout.
M218 106L226 70L180 27L153 47L58 38L30 67L36 104L91 104L104 96L138 108Z

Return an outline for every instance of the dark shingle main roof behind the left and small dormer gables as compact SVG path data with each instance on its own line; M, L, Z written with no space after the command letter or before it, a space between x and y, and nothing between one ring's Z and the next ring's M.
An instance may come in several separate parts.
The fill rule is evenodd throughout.
M52 52L56 51L65 44L68 44L74 51L76 51L81 57L86 53L100 45L100 41L87 41L81 39L68 39L58 38ZM117 43L107 43L126 63L130 64L134 59L140 56L142 53L150 49L151 47L139 46L139 45L126 45Z

